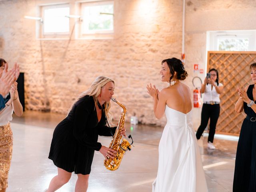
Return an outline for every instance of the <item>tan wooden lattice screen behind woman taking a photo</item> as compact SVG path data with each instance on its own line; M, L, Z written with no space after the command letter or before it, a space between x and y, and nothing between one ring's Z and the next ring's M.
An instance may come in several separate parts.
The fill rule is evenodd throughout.
M244 112L237 114L234 110L238 100L236 88L252 84L249 66L256 62L256 52L209 51L207 60L207 71L210 68L217 69L219 82L224 84L224 91L220 95L220 117L216 132L239 135L246 115Z

